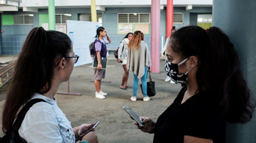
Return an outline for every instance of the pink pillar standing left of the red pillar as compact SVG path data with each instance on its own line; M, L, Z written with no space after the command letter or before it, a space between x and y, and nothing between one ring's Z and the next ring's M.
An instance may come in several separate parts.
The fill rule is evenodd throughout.
M160 72L160 0L151 0L151 72Z

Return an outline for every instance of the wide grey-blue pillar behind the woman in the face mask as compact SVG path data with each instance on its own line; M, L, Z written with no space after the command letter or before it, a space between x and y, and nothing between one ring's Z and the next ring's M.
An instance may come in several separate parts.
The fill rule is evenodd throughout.
M221 28L238 51L245 80L256 99L256 1L214 0L213 26ZM227 124L227 143L256 142L256 112L249 123Z

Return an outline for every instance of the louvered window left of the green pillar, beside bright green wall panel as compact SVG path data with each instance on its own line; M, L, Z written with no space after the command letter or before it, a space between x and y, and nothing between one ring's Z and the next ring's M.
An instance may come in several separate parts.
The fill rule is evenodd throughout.
M28 15L14 15L14 25L33 25L33 14Z

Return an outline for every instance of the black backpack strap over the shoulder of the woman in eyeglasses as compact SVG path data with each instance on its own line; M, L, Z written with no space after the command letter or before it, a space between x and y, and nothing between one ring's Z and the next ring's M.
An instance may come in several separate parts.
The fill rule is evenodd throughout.
M14 122L12 128L11 128L11 130L8 130L8 131L18 132L18 130L19 130L20 126L21 126L21 123L24 120L25 115L28 112L29 108L32 107L35 103L38 103L38 102L46 102L46 101L43 100L43 99L39 99L39 98L31 99L30 101L28 101L26 103L26 105L22 108L22 110L19 112L18 117L16 118L16 120L15 120L15 122ZM6 131L6 132L8 132L8 131Z

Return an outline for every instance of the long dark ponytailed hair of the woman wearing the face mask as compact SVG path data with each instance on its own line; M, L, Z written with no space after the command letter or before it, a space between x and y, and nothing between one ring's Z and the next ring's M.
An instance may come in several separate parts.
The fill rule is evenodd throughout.
M219 28L204 30L198 26L178 29L170 46L183 59L197 56L197 91L215 91L219 109L229 123L246 123L252 118L255 100L243 78L240 60L229 40Z

